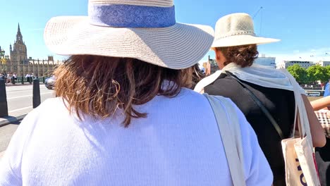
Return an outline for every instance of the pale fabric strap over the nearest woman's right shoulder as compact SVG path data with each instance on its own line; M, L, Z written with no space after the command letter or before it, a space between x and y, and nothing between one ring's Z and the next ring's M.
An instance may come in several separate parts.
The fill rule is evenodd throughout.
M233 185L245 185L243 147L236 109L224 97L204 96L209 100L218 123Z

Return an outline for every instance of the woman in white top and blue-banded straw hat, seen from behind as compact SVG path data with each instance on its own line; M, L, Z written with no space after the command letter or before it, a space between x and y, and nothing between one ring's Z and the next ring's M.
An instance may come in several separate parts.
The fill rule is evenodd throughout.
M214 37L176 23L173 1L90 0L88 17L52 18L44 39L71 57L55 71L57 98L13 135L0 185L232 185L232 171L242 185L271 185L243 113L213 101L241 129L244 145L226 154L207 96L185 88ZM242 169L228 168L228 156Z

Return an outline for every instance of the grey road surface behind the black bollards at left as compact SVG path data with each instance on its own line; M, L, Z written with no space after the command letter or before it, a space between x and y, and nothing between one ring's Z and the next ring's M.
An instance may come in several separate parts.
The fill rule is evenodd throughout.
M32 111L32 85L6 87L6 93L9 116L18 116ZM41 101L55 97L54 90L40 85L40 96Z

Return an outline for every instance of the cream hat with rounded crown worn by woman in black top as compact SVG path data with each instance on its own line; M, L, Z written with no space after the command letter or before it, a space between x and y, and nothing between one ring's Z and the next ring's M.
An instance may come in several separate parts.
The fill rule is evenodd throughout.
M257 37L251 16L247 13L232 13L220 18L216 22L212 48L246 44L266 44L279 41L279 39Z

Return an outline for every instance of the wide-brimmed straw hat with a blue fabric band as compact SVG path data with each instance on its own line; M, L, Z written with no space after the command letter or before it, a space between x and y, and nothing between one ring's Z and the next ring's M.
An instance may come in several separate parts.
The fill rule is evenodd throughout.
M138 58L183 69L207 54L214 30L176 23L173 0L89 0L88 16L51 18L44 40L60 55Z

